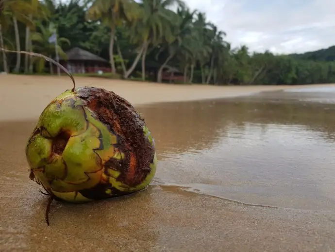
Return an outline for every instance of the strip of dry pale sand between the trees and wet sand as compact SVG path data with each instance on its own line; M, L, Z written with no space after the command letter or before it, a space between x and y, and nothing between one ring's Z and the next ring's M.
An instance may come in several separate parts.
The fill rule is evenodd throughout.
M208 86L160 84L97 77L75 77L77 87L96 86L113 90L133 105L157 102L192 101L251 95L262 91L296 89L313 86ZM67 76L0 74L0 121L37 118L43 108L61 92L71 89Z

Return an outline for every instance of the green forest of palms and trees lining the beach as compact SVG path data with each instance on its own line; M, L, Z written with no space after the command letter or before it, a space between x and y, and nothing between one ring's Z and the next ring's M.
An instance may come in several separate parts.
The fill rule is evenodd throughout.
M183 83L296 85L335 82L335 47L275 55L232 48L226 34L182 0L0 0L0 47L60 58L80 47L110 62L111 75L162 82L167 65ZM333 53L334 52L334 53ZM157 64L155 79L146 72ZM46 74L43 58L0 52L0 72Z

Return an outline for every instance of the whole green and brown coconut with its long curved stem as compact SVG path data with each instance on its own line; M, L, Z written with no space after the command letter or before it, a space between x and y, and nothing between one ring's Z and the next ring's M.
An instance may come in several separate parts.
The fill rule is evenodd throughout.
M30 179L50 197L47 224L53 199L83 203L145 189L157 157L151 132L136 109L112 91L76 89L67 69L32 55L56 64L73 82L72 90L43 110L25 148Z

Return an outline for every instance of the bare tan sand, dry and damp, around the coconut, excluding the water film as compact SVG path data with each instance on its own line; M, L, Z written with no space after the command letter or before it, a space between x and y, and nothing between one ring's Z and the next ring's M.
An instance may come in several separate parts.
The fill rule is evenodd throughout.
M134 104L283 89L76 79L78 86L114 90ZM42 109L68 88L67 77L0 75L0 118L6 121L0 123L1 252L335 251L332 212L244 205L155 182L132 197L54 203L48 227L47 198L28 178L24 146Z

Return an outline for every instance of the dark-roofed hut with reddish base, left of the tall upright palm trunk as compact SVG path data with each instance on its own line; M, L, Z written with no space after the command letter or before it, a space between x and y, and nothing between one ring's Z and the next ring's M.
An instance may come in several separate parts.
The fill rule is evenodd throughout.
M110 63L98 55L79 47L65 52L67 59L59 59L59 63L71 73L111 72ZM56 66L54 66L54 72Z

